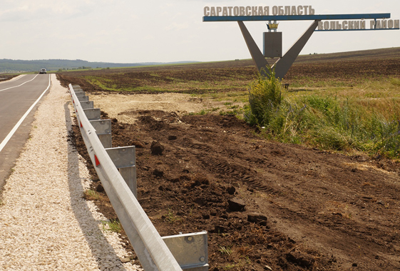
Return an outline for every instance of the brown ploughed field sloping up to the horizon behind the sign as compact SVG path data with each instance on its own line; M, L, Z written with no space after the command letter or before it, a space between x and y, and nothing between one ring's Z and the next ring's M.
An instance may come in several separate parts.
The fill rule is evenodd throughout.
M271 63L275 60L269 59ZM104 92L103 86L119 93L220 93L247 91L257 75L252 60L194 63L175 66L68 71L58 73L88 91ZM284 76L284 83L328 82L330 85L399 78L400 47L349 53L299 56ZM96 80L93 80L96 78ZM96 83L97 82L97 83ZM103 86L99 86L99 83ZM132 91L132 89L136 89ZM115 92L115 91L113 91Z

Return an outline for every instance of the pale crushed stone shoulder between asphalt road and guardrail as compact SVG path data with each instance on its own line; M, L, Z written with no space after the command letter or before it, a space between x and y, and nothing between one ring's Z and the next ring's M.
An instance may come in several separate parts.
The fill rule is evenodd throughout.
M54 74L0 202L0 270L141 270L83 199L91 179L68 143L73 109Z

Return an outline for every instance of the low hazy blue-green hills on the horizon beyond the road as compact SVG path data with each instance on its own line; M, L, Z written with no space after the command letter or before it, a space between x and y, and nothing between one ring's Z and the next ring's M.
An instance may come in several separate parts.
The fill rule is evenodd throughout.
M173 63L191 63L194 61L183 61ZM148 63L108 63L108 62L90 62L81 59L44 59L44 60L13 60L0 59L0 73L15 73L25 71L39 71L46 68L48 71L73 70L81 68L123 68L133 66L160 65L167 63L148 62Z

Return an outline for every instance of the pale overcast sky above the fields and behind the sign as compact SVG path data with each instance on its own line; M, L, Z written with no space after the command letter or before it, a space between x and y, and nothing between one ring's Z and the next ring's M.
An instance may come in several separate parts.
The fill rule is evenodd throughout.
M391 13L400 1L0 0L0 59L82 59L113 63L251 58L235 21L203 22L205 6L309 5L315 14ZM287 51L312 21L280 21ZM264 21L245 21L262 51ZM367 24L369 28L369 24ZM312 34L301 54L400 46L400 30Z

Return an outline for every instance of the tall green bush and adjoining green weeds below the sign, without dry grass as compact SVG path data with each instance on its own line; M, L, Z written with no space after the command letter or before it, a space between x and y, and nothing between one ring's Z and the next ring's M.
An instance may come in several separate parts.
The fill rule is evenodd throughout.
M361 150L391 158L400 155L400 120L391 121L374 108L351 98L282 96L282 83L259 76L249 87L245 121L259 126L266 138L302 143L325 150Z

